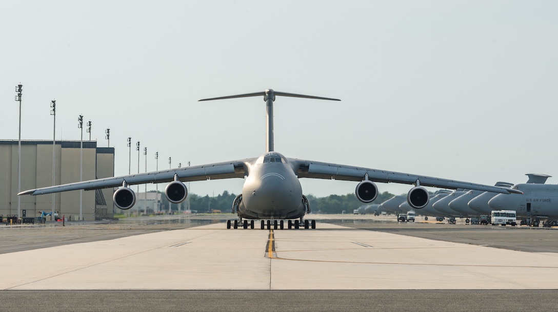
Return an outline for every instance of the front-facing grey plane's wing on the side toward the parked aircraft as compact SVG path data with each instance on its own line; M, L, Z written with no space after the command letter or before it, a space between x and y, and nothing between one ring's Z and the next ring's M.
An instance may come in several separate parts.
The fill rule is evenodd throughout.
M478 191L488 191L494 193L520 193L521 191L504 187L489 186L484 184L461 182L450 179L434 178L419 176L416 174L408 174L401 172L392 172L387 170L378 170L371 168L354 167L349 165L340 165L332 163L314 162L311 160L301 160L289 158L288 161L299 178L314 179L335 179L343 181L363 181L366 174L368 180L382 183L403 183L415 184L418 180L420 186L450 188L450 189L476 189Z

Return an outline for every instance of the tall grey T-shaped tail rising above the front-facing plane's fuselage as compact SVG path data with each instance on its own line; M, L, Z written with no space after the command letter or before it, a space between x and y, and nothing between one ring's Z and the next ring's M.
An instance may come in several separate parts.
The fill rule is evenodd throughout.
M280 91L273 91L273 89L267 89L263 92L254 92L247 94L229 95L212 97L211 99L201 99L200 101L210 101L210 100L223 100L223 99L234 99L236 97L249 97L249 96L262 96L263 100L266 102L266 152L273 152L273 101L275 101L276 96L291 96L291 97L302 97L305 99L318 99L318 100L330 100L330 101L340 101L339 99L331 99L330 97L321 97L313 95L304 94L294 94Z

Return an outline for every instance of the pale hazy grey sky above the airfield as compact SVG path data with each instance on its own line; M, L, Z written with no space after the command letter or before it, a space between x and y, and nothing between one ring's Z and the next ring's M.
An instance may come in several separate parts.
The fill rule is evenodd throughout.
M110 128L116 175L128 136L149 171L155 152L160 169L258 157L262 98L197 100L271 88L341 99L277 97L287 157L484 184L558 177L557 16L556 1L3 0L0 139L17 140L21 82L22 139L52 140L56 99L56 139L80 139L80 114L100 147ZM315 196L357 184L301 183Z

